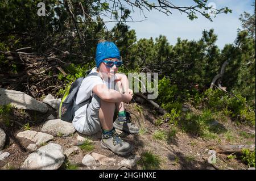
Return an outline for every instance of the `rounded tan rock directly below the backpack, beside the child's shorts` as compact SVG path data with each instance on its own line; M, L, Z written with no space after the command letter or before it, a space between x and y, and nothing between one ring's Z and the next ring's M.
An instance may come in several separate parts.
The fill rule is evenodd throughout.
M76 129L73 127L72 123L61 121L60 119L53 119L46 121L41 131L49 132L55 136L58 134L68 136L69 134L75 133Z

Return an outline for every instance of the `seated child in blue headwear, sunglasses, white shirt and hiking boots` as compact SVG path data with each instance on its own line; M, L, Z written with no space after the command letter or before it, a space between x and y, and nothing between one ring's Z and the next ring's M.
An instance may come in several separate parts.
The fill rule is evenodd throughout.
M101 146L116 154L130 153L133 146L123 141L115 128L136 134L139 129L130 122L124 103L133 98L125 74L117 73L122 65L117 46L110 41L99 41L96 49L96 68L85 77L77 92L76 104L91 97L90 103L75 112L73 126L83 134L94 134L102 129ZM90 75L89 74L89 75ZM116 89L114 89L114 87ZM118 117L113 123L115 109Z

